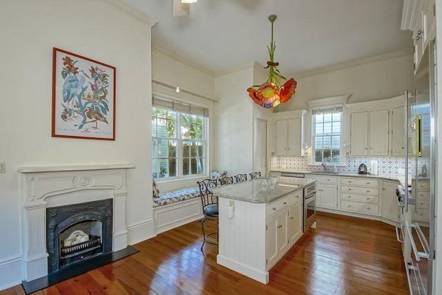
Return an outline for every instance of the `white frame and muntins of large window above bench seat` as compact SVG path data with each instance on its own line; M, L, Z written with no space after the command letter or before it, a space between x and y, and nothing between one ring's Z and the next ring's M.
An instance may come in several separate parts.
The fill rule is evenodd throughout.
M173 181L173 180L186 180L186 179L192 179L192 178L201 178L204 175L208 175L209 174L209 117L204 116L204 115L200 115L200 114L192 114L191 112L186 112L186 111L180 111L180 110L173 110L171 108L168 107L164 107L164 106L160 106L160 105L152 105L151 106L151 113L153 111L153 109L161 109L164 111L169 111L169 112L175 112L175 137L161 137L158 136L158 134L156 133L156 135L154 135L154 133L151 133L151 149L152 149L152 154L151 154L151 165L152 165L152 176L154 175L154 173L156 173L157 171L153 170L153 164L154 161L157 161L157 164L159 164L160 162L160 157L156 157L156 155L154 155L153 153L153 144L154 141L157 139L160 140L176 140L177 142L177 147L176 147L176 151L175 151L175 161L176 161L176 175L175 176L168 176L168 177L163 177L160 178L159 175L154 178L155 180L157 180L157 182L167 182L167 181ZM186 138L182 135L182 115L195 115L198 117L202 117L202 129L203 129L203 134L202 134L202 138L201 139L192 139L192 138ZM151 124L152 124L152 119L153 117L151 117ZM152 125L151 125L151 129L152 129ZM196 174L188 174L188 175L184 175L184 169L183 169L183 160L184 160L184 155L183 155L183 149L184 149L184 142L203 142L204 143L204 157L202 157L204 159L204 164L203 164L203 172L202 173L196 173ZM191 152L189 151L189 159L191 159ZM172 158L166 158L166 159L172 159ZM189 166L189 169L191 169L191 167ZM191 171L190 171L191 172Z

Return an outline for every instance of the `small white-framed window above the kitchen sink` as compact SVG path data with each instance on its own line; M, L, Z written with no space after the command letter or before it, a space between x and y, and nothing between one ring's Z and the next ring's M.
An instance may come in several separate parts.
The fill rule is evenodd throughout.
M312 112L313 162L341 164L342 122L342 107Z

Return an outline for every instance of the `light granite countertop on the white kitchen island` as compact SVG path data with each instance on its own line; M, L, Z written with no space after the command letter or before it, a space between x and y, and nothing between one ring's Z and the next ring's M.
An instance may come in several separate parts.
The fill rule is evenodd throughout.
M263 185L263 182L267 182L267 186ZM314 182L316 180L311 178L279 177L275 184L271 184L271 178L256 178L216 187L213 189L213 193L220 198L252 203L270 203Z

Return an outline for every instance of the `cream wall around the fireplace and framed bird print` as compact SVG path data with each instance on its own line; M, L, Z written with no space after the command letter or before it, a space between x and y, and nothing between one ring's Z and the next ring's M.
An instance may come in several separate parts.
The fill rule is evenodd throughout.
M19 166L131 163L131 243L153 236L151 25L110 3L5 0L0 9L0 289L21 283ZM52 47L116 67L115 141L51 137Z

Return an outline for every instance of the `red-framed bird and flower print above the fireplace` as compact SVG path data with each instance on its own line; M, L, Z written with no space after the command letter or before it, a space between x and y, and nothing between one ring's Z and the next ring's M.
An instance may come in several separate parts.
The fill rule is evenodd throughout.
M115 140L114 66L52 51L52 137Z

